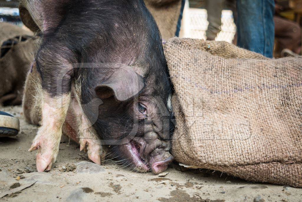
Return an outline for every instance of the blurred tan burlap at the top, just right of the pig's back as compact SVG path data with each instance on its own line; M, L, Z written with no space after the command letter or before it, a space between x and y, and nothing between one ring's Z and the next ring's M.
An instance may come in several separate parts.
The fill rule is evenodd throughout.
M162 40L175 37L177 22L182 6L181 0L144 0L156 21Z

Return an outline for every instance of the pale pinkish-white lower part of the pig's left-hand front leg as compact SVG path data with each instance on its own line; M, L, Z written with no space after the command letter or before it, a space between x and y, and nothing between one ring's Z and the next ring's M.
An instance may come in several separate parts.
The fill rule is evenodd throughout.
M70 102L70 93L50 96L43 91L41 103L41 127L38 129L29 151L38 150L37 171L50 170L56 161L62 136L62 125Z

